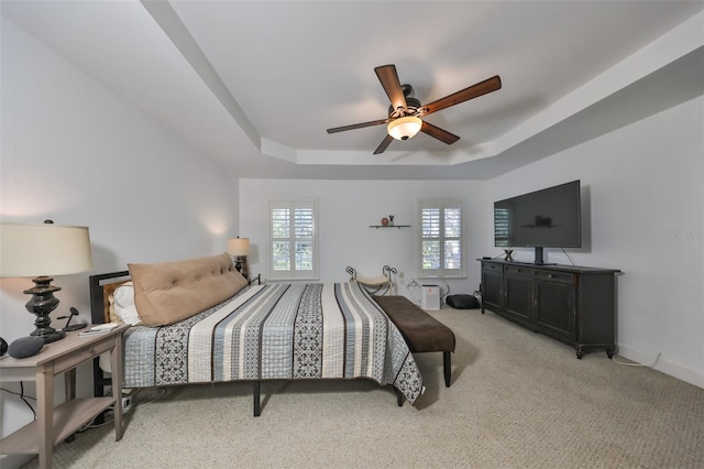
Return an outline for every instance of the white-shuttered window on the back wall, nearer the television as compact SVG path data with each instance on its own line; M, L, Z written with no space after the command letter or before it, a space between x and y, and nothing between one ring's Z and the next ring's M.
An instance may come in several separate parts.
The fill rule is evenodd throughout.
M461 200L421 200L420 276L463 276Z

